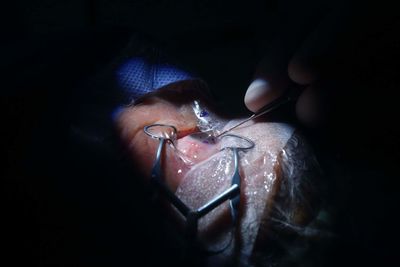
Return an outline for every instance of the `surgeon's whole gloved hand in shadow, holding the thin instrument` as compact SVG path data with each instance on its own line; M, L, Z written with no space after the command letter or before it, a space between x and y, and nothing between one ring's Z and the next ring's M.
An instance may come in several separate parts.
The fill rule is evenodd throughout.
M378 76L373 73L377 65L387 65L380 56L387 44L377 38L393 38L393 20L389 8L379 10L379 6L366 3L329 6L327 1L307 2L310 1L315 3L285 1L285 7L291 8L280 14L278 34L264 48L265 57L244 102L255 112L293 83L302 85L304 90L296 103L297 117L307 126L319 126L327 115L336 112L332 107L340 107L343 113L336 112L334 116L342 121L341 117L352 112L352 103L366 104L358 101L358 94L362 99L379 96L366 96L365 91L368 87L375 90L372 79Z

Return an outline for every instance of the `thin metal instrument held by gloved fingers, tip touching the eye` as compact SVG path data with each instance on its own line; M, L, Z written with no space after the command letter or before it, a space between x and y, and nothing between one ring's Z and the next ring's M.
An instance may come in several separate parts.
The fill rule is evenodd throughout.
M286 92L282 96L278 97L277 99L275 99L272 102L268 103L267 105L263 106L262 108L257 110L253 115L248 117L247 119L244 119L243 121L235 124L234 126L228 128L227 130L222 131L221 133L217 134L215 137L220 137L220 136L226 134L227 132L230 132L233 129L236 129L237 127L245 124L246 122L248 122L250 120L256 119L262 115L265 115L269 112L274 111L275 109L281 107L282 105L284 105L290 101L296 100L299 97L300 93L301 93L300 88L292 88L292 89L286 90Z

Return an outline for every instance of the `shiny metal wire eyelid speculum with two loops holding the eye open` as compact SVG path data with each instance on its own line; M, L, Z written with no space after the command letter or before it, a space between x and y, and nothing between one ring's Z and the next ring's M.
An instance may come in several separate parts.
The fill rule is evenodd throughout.
M157 129L158 128L158 132ZM247 146L227 146L221 149L230 149L233 152L234 157L234 173L231 179L231 186L223 191L220 195L216 196L205 205L201 206L198 209L192 210L190 209L181 199L179 199L167 186L164 181L161 159L162 152L164 150L165 144L170 143L174 145L174 141L177 137L177 129L172 125L166 124L152 124L144 127L144 132L154 138L159 140L159 145L157 147L156 158L154 160L153 168L151 171L151 182L157 187L157 189L170 201L170 203L186 218L186 234L189 240L196 239L197 237L197 229L198 229L198 221L201 217L208 214L210 211L224 203L226 200L229 200L230 206L230 214L232 218L233 227L236 226L238 221L239 214L239 204L240 204L240 187L241 187L241 177L239 173L239 151L240 150L248 150L252 149L255 144L250 139L233 135L226 134L221 136L222 138L239 138L242 141L247 143ZM223 249L218 251L212 251L212 253L219 253L226 249L233 239L233 235L231 236L231 240L228 242Z

